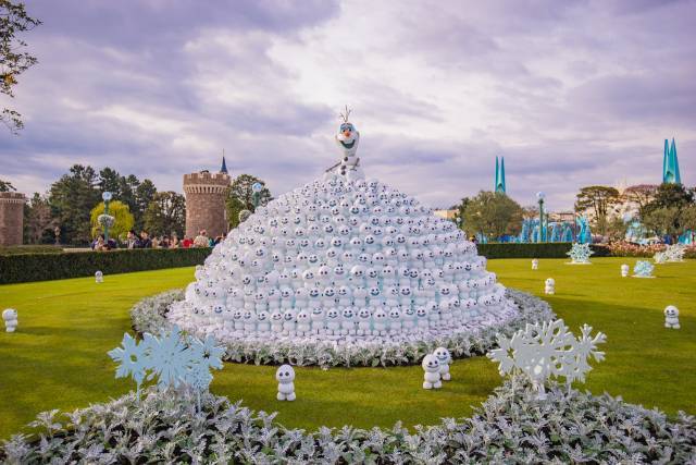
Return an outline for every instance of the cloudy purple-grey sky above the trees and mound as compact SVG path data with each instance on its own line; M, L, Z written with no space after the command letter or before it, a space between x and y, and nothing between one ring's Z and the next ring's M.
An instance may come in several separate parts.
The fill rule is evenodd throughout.
M44 192L73 163L182 192L252 173L277 195L337 160L344 105L371 176L446 207L490 189L569 208L657 183L675 137L696 184L694 1L28 0L39 64L0 132L0 178ZM1 101L7 105L7 99Z

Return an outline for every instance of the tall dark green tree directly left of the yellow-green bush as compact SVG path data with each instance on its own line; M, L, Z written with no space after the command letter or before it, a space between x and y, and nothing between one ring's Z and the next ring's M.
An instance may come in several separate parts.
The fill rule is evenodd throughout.
M89 212L101 200L95 169L74 164L67 174L51 185L49 204L67 244L90 240Z

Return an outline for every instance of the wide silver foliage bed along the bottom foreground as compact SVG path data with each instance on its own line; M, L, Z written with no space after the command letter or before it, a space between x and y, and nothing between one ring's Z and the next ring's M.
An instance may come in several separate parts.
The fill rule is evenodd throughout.
M278 425L210 393L156 388L73 413L40 414L35 437L15 435L0 462L38 463L694 463L696 418L675 419L608 394L550 384L547 399L508 380L470 418L406 429Z

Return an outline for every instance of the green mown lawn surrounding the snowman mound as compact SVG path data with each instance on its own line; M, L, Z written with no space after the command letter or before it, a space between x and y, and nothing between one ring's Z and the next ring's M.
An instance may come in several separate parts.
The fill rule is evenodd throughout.
M574 331L587 322L608 335L607 360L589 375L593 392L621 394L626 401L696 413L696 261L663 265L658 279L622 279L619 265L635 259L598 258L593 266L566 266L527 259L490 260L505 285L542 294L544 279L556 279L548 301ZM139 298L192 279L192 269L147 271L0 286L0 307L20 311L17 333L0 333L0 438L30 421L38 412L73 409L115 397L133 384L114 379L107 351L129 330L129 307ZM681 310L682 329L663 328L662 309ZM287 426L389 427L432 424L465 416L500 382L484 357L457 360L453 380L438 392L421 389L417 367L298 368L294 403L275 401L274 367L225 364L212 391L266 412L278 411Z

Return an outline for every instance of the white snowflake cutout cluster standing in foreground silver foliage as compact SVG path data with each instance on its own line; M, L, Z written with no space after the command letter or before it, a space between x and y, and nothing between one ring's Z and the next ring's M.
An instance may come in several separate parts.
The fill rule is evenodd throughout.
M607 336L598 332L592 338L592 327L587 325L583 325L581 332L575 338L562 319L527 325L510 339L498 334L499 348L486 356L499 364L501 376L525 376L543 400L548 378L563 377L570 391L573 381L585 382L585 375L592 370L589 358L604 360L605 353L597 351L597 345L606 342Z

